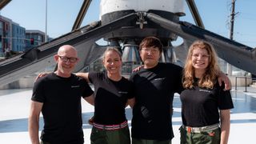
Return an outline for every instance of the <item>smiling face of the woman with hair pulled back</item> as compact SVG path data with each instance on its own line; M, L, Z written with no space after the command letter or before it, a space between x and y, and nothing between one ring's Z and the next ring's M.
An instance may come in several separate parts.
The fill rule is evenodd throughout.
M122 60L118 52L114 50L106 51L103 58L103 66L108 74L121 75Z

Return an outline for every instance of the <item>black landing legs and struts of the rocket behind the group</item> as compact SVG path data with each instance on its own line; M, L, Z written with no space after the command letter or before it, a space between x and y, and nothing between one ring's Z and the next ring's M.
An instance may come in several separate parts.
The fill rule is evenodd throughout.
M187 2L192 1L187 0ZM14 82L28 74L34 74L46 66L55 65L52 56L56 54L58 47L64 44L73 45L78 50L78 57L81 61L75 71L79 71L98 59L105 50L106 46L98 46L95 43L98 39L104 38L108 42L122 42L123 44L133 40L138 44L142 38L149 35L160 38L167 49L171 48L175 51L180 61L184 61L188 46L194 40L206 40L214 45L220 58L242 70L256 74L256 49L204 30L200 17L195 18L198 21L196 22L198 26L194 26L188 22L179 21L178 14L166 14L159 10L147 12L126 10L103 15L102 21L78 28L83 18L82 15L86 13L89 5L90 0L86 0L78 14L81 16L78 16L77 22L75 22L77 24L74 24L73 31L69 34L0 62L0 85ZM190 5L194 7L194 3L190 3ZM199 16L197 10L191 11L195 11L194 15ZM174 47L171 42L178 36L183 38L183 43Z

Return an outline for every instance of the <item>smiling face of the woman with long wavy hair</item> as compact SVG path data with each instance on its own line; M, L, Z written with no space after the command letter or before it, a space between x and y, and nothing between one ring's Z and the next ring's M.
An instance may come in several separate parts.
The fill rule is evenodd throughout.
M195 73L198 71L204 73L207 66L209 66L210 55L208 51L203 48L194 48L192 52L192 66L194 67Z

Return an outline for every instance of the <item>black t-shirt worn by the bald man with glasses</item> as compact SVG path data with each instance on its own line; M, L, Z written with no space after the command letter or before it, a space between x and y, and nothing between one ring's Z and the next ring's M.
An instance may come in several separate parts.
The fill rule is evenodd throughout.
M39 78L34 83L31 100L43 103L42 141L83 143L81 97L93 92L84 79L74 74L70 78L54 73Z

